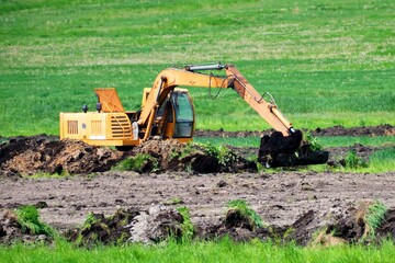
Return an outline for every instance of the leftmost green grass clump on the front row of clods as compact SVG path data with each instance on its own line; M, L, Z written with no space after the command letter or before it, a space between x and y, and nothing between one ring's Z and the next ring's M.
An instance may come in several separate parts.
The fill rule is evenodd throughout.
M23 232L54 237L54 230L40 220L40 214L35 206L25 205L19 207L16 216Z

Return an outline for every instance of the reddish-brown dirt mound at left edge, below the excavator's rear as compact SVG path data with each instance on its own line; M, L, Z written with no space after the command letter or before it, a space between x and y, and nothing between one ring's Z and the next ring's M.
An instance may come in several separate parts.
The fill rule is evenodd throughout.
M38 172L76 174L106 171L123 158L123 152L79 140L18 137L1 145L0 158L0 170L8 175Z

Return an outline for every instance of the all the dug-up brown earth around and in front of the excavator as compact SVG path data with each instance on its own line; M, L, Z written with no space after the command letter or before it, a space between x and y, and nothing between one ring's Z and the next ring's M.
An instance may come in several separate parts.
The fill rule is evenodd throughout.
M374 128L375 135L380 129L382 135L394 134L392 126ZM328 149L329 161L341 159L350 149L362 159L376 150L361 145ZM21 232L12 211L22 205L41 207L42 221L69 240L83 237L86 243L92 237L104 243L149 243L159 242L169 232L182 236L183 218L177 210L181 206L188 207L193 237L199 239L227 235L235 240L296 240L303 245L356 242L370 240L366 237L372 230L361 218L376 201L388 211L374 235L395 240L395 171L257 172L246 160L257 150L233 149L230 162L224 164L203 149L187 155L173 141L154 141L120 152L50 136L10 138L0 147L0 242L8 243L13 237L47 239ZM137 153L154 157L156 172L111 170ZM146 167L153 171L153 162ZM70 175L30 178L37 173ZM263 227L229 211L227 204L235 199L247 202L262 218ZM82 224L89 215L95 224L87 228Z

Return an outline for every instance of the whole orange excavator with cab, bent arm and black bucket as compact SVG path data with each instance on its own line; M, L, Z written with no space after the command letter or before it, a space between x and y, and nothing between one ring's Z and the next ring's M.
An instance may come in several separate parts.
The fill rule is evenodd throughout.
M214 75L213 71L221 71L222 75ZM269 163L275 164L275 159L281 155L287 155L292 159L302 146L302 133L293 128L270 93L261 95L234 65L221 62L162 70L153 87L144 89L142 107L137 111L125 111L114 88L94 89L98 99L95 112L88 112L88 106L83 105L80 113L60 113L60 139L78 139L94 146L115 146L121 150L153 138L191 141L195 129L194 106L188 90L178 87L236 91L275 129L273 139L268 136L261 139L259 159L267 167ZM270 99L269 102L266 98ZM326 162L324 159L319 163ZM295 161L285 164L293 165Z

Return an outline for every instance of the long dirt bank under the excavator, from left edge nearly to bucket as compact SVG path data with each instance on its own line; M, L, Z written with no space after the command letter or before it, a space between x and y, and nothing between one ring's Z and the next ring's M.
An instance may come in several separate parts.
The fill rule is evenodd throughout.
M89 146L78 140L52 140L52 137L33 136L12 138L0 146L0 171L5 175L36 173L76 174L109 171L115 163L139 153L149 155L139 172L185 171L256 172L255 162L228 152L224 162L204 148L187 148L178 140L149 140L128 152L106 147ZM0 175L1 175L0 174Z

